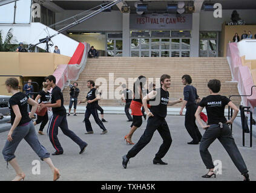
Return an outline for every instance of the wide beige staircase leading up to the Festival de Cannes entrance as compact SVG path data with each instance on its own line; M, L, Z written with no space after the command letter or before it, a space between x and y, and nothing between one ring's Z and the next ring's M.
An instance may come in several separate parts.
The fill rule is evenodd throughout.
M78 100L83 100L87 96L89 91L87 80L95 81L97 78L102 77L108 81L109 73L114 73L114 80L119 77L125 78L127 86L128 78L137 78L139 75L144 75L146 78L159 78L162 74L169 74L171 75L170 100L183 98L182 75L184 74L191 75L192 85L197 88L197 93L201 98L209 95L207 83L214 78L222 82L221 95L238 95L237 83L229 82L232 80L231 71L224 57L99 57L99 59L87 60L84 71L79 75L79 80L76 81L80 89ZM117 87L119 85L114 86L114 90ZM66 87L63 93L64 104L69 104L69 87ZM232 98L232 101L239 106L241 98ZM116 99L102 99L99 101L99 105L123 106L124 103ZM180 106L181 104L177 104L174 107Z

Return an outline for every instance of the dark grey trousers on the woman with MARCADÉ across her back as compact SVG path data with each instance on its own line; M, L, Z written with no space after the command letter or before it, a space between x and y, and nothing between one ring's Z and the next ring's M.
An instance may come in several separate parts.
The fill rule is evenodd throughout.
M200 143L200 155L206 168L214 168L214 163L212 162L212 157L208 151L208 148L216 138L222 143L223 147L228 152L241 174L248 172L243 157L241 156L240 151L235 144L234 138L232 137L228 124L223 124L223 128L220 128L218 124L211 125L211 127L206 129L205 134L203 134L203 138Z

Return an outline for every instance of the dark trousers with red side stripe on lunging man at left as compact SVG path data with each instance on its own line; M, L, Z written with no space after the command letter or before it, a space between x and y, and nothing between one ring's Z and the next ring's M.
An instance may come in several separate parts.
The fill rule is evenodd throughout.
M61 128L63 134L72 139L77 145L79 145L80 149L82 149L87 143L82 141L73 131L68 129L67 115L56 115L53 114L50 119L50 123L48 126L48 136L50 138L51 144L57 152L63 152L63 148L61 147L61 143L57 138L58 130Z

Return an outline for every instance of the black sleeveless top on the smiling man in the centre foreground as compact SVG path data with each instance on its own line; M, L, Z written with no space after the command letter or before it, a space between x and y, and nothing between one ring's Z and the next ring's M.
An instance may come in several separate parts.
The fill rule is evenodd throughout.
M154 116L158 116L160 118L165 118L167 115L167 105L168 105L168 101L169 101L169 92L165 91L161 88L156 89L157 95L156 98L154 98L153 100L149 100L149 101L156 101L157 98L159 98L160 95L160 103L157 104L156 106L153 104L150 104L150 111L151 113L153 113Z

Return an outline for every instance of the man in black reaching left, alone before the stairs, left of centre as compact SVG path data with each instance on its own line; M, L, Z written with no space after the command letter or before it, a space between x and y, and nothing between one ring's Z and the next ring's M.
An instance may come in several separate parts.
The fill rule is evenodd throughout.
M108 131L103 125L102 121L99 119L99 115L96 109L97 101L100 100L100 95L97 93L97 89L94 88L95 83L93 80L87 81L87 87L90 91L87 93L87 97L83 101L79 101L79 104L85 103L87 101L86 111L85 111L85 128L87 133L85 134L93 134L93 128L91 127L91 122L89 120L91 114L93 114L93 118L97 125L103 130L100 134L106 134Z

